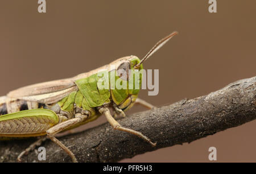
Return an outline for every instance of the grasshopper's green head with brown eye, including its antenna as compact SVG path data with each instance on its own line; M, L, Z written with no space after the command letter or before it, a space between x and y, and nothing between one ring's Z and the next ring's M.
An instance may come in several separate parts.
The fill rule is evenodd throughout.
M127 56L115 60L112 63L115 65L115 67L117 67L115 68L115 71L117 71L117 77L115 77L115 81L122 80L122 84L127 84L127 86L129 86L127 90L111 90L112 100L119 109L126 111L134 105L135 100L138 97L139 89L142 85L142 63L146 61L148 57L158 51L160 47L167 43L168 40L170 40L172 36L176 34L177 32L172 32L172 34L166 36L166 38L163 38L158 43L156 43L142 60L136 56ZM132 88L130 88L130 84L133 84Z

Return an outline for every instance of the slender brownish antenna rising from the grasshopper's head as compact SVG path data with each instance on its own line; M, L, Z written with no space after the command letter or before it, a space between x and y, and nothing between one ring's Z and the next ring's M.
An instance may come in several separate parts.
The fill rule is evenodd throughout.
M150 49L150 51L147 53L146 56L143 57L143 59L141 60L140 63L138 63L137 65L135 65L135 68L139 68L140 65L146 61L150 56L152 56L156 51L158 51L159 48L163 47L164 44L166 44L173 36L177 35L178 32L174 31L172 32L170 35L166 36L165 38L159 40L158 43L156 43L154 45L154 47L152 49Z

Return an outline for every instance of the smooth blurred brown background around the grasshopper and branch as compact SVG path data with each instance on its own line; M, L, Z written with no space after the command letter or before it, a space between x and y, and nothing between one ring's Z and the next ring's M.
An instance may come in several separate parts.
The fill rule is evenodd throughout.
M159 39L179 31L144 63L159 69L159 94L140 97L161 106L195 98L255 76L256 1L49 1L0 2L0 95L37 82L67 78L128 55L143 57ZM129 113L144 110L135 106ZM86 128L106 122L104 117ZM256 161L256 121L183 146L123 162Z

